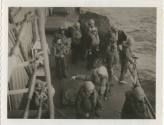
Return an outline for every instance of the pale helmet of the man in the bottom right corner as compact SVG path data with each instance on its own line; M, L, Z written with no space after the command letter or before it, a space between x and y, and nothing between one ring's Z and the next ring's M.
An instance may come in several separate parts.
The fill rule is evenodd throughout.
M144 90L140 86L135 87L133 92L134 92L135 97L138 100L143 100L144 99L145 93L144 93Z

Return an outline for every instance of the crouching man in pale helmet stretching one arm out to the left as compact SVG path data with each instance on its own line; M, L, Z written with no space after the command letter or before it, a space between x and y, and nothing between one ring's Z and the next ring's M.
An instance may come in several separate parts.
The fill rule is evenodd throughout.
M110 88L109 88L110 86L109 86L109 81L108 81L108 71L100 60L96 60L94 62L94 66L90 74L78 74L78 75L72 76L72 79L92 81L98 92L99 98L107 100L109 92L110 92Z

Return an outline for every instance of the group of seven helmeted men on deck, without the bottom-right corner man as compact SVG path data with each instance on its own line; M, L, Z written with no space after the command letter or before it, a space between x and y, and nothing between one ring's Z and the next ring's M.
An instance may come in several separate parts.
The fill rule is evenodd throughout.
M87 48L83 47L82 31L79 22L76 22L71 28L64 29L60 27L59 33L55 35L54 55L56 57L56 69L60 78L67 77L65 59L66 55L71 54L72 63L76 64L78 60L85 57L87 68L91 73L78 74L72 76L73 80L84 80L84 84L79 89L76 97L77 118L95 118L99 117L98 111L103 110L102 100L107 100L110 94L110 87L113 84L114 66L120 62L121 73L120 84L126 84L125 75L129 65L133 65L134 55L131 46L133 39L116 27L109 28L106 34L107 41L101 41L99 31L93 19L88 20ZM69 36L68 39L66 36ZM85 41L86 42L86 41ZM105 54L101 54L100 44L105 43ZM85 51L83 51L85 50ZM85 52L85 53L83 53Z

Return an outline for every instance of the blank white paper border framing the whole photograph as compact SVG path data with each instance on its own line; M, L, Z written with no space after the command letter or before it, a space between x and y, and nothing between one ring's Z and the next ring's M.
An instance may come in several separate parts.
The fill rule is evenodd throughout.
M156 34L156 119L151 120L59 120L59 119L7 119L7 71L8 71L8 7L156 7L157 34ZM29 124L56 124L56 125L84 125L84 124L130 124L130 125L161 125L162 124L162 1L160 0L4 0L2 1L2 43L1 43L1 124L2 125L29 125Z

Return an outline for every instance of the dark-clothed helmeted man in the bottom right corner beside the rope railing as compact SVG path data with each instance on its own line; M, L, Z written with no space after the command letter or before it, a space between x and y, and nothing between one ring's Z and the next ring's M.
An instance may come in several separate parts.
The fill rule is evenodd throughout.
M135 85L132 90L125 93L126 99L122 108L122 119L150 119L153 114L146 103L143 89Z

